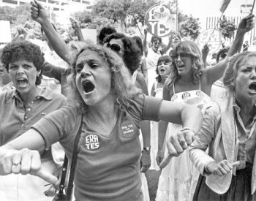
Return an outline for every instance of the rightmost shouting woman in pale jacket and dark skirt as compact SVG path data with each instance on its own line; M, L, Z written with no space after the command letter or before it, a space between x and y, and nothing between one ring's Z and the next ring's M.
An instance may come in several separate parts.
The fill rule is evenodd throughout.
M201 173L193 200L255 200L256 53L233 56L223 83L189 148Z

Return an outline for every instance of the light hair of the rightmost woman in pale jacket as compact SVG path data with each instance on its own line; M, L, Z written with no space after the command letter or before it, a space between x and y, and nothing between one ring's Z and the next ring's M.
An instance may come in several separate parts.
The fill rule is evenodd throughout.
M227 68L225 69L223 75L223 84L230 93L233 93L236 90L235 80L237 77L238 68L241 67L248 58L256 56L255 52L245 51L239 53L230 58Z

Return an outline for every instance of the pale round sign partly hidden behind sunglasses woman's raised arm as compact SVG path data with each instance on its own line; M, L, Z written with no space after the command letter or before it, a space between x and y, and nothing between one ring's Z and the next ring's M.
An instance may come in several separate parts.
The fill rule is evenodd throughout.
M211 38L209 38L210 36ZM206 29L197 37L197 44L200 45L200 48L203 48L203 45L208 42L210 48L209 55L211 55L211 53L216 53L220 48L222 48L221 38L222 34L220 31L216 29Z

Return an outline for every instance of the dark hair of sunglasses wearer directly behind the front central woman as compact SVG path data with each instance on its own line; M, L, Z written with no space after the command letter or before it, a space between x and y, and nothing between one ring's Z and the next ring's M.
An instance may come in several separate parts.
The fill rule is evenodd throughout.
M140 67L140 50L134 39L126 37L121 33L113 33L105 37L104 43L110 42L111 39L121 39L124 43L124 64L126 64L129 72L133 74Z

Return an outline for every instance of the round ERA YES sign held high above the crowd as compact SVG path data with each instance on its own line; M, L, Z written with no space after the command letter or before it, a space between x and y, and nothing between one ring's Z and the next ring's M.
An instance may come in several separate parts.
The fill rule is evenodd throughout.
M176 31L176 13L164 5L154 5L149 8L145 15L144 24L147 31L157 37L166 37L172 31Z

